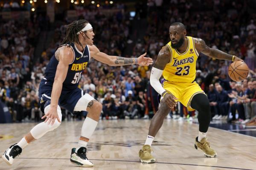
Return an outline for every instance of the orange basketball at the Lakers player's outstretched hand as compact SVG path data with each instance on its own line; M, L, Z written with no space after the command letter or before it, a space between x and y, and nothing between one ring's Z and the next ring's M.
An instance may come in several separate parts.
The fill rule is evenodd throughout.
M233 81L243 81L249 74L249 68L242 61L235 61L228 68L228 75Z

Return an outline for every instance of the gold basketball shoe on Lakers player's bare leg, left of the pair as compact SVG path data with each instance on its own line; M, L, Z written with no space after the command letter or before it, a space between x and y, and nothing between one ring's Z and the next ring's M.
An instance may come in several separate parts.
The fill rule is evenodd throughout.
M148 144L145 144L142 149L139 151L139 157L140 157L140 162L145 163L145 164L151 164L156 161L156 158L151 155L151 147Z

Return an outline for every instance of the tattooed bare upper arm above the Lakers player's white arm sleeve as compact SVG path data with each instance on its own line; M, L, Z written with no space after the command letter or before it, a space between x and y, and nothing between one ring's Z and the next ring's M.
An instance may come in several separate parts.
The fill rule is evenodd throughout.
M163 47L157 55L157 61L154 63L155 68L163 70L167 63L171 61L171 53L169 47Z

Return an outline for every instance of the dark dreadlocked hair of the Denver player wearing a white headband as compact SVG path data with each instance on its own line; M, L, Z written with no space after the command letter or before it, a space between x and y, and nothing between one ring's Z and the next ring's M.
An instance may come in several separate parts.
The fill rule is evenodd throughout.
M74 42L82 46L82 44L78 39L78 35L76 35L76 33L81 31L81 29L83 29L87 25L87 23L89 23L87 20L77 20L77 21L73 21L69 25L66 25L65 27L67 28L67 34L61 44Z

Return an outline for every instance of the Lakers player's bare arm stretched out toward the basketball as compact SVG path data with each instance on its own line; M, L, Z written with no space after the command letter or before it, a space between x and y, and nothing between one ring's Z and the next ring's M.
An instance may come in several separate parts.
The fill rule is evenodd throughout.
M241 58L234 55L229 55L221 50L210 48L206 45L204 40L201 38L194 38L195 40L195 48L198 53L202 52L205 55L208 55L211 58L217 58L220 60L229 60L229 61L243 61Z

